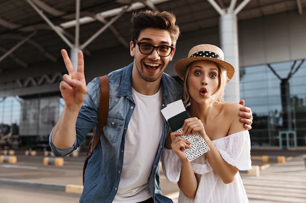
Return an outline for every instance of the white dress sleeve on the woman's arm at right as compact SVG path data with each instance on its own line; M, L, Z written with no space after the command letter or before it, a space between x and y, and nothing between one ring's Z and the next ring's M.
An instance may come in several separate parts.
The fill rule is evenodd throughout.
M219 149L222 158L239 170L251 169L251 141L248 130L243 130L218 140L213 144Z

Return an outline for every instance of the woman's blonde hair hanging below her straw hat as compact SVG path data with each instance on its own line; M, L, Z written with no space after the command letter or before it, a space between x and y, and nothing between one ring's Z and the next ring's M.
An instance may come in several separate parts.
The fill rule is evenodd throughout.
M188 91L188 83L189 83L189 76L191 73L191 67L193 63L190 63L187 66L186 74L184 76L184 105L187 106L190 101L190 94ZM218 65L217 65L218 66ZM227 82L227 75L226 70L222 69L218 66L219 76L218 76L218 88L216 92L212 95L211 100L209 101L210 105L214 104L215 102L223 102L224 101L224 91Z

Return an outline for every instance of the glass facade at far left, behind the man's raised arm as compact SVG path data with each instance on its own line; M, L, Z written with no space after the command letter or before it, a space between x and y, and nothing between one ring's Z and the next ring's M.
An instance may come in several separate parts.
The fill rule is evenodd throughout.
M0 98L0 148L48 144L64 106L56 94Z

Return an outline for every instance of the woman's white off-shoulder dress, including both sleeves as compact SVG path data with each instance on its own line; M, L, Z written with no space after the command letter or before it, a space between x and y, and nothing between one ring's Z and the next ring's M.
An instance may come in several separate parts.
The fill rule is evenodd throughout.
M222 158L239 170L251 169L251 142L248 130L243 130L218 140L212 141ZM181 171L181 159L172 149L165 148L161 157L163 172L166 178L177 183ZM248 198L239 172L230 184L212 169L205 154L191 162L199 180L195 199L187 198L179 191L178 203L248 203Z

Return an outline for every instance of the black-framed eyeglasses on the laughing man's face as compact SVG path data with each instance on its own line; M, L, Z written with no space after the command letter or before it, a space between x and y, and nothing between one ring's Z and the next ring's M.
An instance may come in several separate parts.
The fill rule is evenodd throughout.
M150 55L152 54L154 49L156 49L157 54L160 57L167 57L168 55L171 54L171 51L174 49L174 47L172 46L165 46L165 45L155 47L152 44L148 44L145 42L138 42L136 39L134 39L134 42L138 45L140 53L144 55Z

